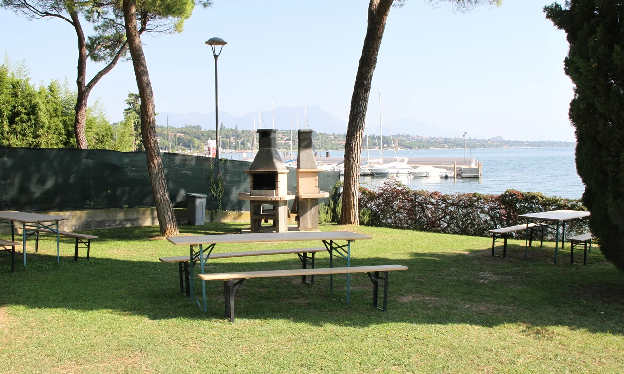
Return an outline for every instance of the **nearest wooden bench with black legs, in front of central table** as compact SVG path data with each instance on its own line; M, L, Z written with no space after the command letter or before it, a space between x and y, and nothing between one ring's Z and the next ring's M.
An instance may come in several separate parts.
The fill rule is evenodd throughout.
M345 274L364 272L373 282L373 307L386 310L388 302L388 272L407 270L401 265L382 266L354 266L354 267L329 267L325 269L298 269L298 270L270 270L270 271L245 271L231 273L199 274L202 280L223 280L223 298L225 302L225 318L234 323L234 295L243 281L248 278L264 277L288 277L288 276L318 276L324 274ZM379 273L383 272L383 277ZM238 279L238 281L235 281ZM379 286L383 287L383 307L378 307Z

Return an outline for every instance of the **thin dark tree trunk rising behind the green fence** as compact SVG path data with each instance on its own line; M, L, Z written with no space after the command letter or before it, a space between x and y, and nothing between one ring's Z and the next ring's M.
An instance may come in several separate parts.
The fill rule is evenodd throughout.
M76 106L74 106L74 135L76 136L76 148L87 149L87 136L84 132L85 123L87 122L87 102L89 100L90 91L87 89L87 45L84 31L82 31L80 19L76 11L69 12L69 15L71 16L72 25L78 37L77 98Z

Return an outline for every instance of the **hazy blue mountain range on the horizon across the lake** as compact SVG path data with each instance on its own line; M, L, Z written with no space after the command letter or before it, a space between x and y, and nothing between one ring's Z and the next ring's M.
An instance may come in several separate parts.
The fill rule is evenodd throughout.
M296 112L296 113L295 113ZM318 105L310 105L307 107L308 112L308 128L316 132L322 133L346 133L347 123L338 117L325 112ZM262 110L260 123L262 128L273 127L273 115L270 110ZM293 128L297 128L297 116L299 117L299 127L306 128L305 125L305 108L279 107L275 108L275 128L290 128L290 118L293 118ZM205 113L158 113L156 122L158 125L167 125L167 117L169 126L183 127L185 125L200 125L205 130L215 128L215 112ZM223 110L219 111L219 122L223 123L226 128L238 127L239 130L251 130L253 128L253 120L256 120L256 129L260 128L258 122L258 112L251 112L243 115L243 117L234 117ZM369 123L370 125L370 123ZM374 125L375 132L379 135L379 124ZM390 122L392 134L408 134L418 135L421 137L453 137L457 134L449 130L429 125L426 122L417 122L410 118L401 118ZM373 128L369 127L369 135L373 135ZM388 135L388 127L384 125L384 134Z

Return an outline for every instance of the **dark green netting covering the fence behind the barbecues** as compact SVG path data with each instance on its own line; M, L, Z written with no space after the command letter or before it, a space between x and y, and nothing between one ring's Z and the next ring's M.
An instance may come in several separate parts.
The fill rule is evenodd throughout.
M250 163L200 156L162 154L174 208L186 208L187 193L208 195L217 209L210 172L223 183L222 209L248 211L238 194L249 191ZM339 174L319 175L322 191L331 191ZM288 171L288 189L296 191L296 170ZM215 190L216 191L216 190ZM323 199L321 199L323 201ZM326 202L326 201L325 201ZM0 147L0 210L63 211L154 206L145 153L110 150Z

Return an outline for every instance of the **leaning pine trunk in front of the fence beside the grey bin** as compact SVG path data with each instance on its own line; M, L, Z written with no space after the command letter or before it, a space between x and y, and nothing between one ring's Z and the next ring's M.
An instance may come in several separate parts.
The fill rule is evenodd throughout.
M154 193L154 202L158 213L158 223L160 233L163 236L177 236L178 225L173 215L173 206L167 189L165 180L165 169L160 159L160 149L158 148L158 138L156 136L156 118L154 109L154 92L152 83L147 71L147 62L141 44L141 37L137 29L137 14L135 0L124 1L125 34L128 39L128 47L132 56L134 75L139 86L141 97L141 134L145 146L147 158L147 170Z

